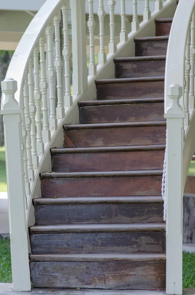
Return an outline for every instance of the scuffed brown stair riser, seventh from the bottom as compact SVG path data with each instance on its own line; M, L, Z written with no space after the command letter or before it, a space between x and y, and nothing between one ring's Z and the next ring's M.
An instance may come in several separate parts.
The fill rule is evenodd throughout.
M80 107L81 124L163 121L164 103Z

